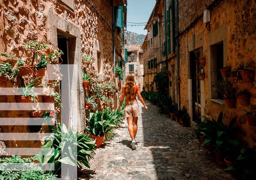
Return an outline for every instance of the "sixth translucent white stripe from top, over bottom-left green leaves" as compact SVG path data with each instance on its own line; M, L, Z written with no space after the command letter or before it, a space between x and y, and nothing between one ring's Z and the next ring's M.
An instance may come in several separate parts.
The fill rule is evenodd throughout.
M41 167L41 163L0 163L0 170L54 170L54 163L46 163Z

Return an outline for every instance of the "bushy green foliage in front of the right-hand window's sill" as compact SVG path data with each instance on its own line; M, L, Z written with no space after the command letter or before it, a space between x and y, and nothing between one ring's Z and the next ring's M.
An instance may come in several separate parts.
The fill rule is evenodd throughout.
M212 87L215 87L217 92L223 95L224 100L236 97L237 88L233 87L232 83L227 79L220 79Z

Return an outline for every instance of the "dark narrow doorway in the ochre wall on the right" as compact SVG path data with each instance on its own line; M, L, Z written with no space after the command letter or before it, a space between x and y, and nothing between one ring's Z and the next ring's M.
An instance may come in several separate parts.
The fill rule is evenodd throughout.
M191 79L192 79L192 108L193 108L193 121L200 121L198 118L201 116L201 94L200 94L200 79L197 76L201 70L199 62L200 50L190 53L191 55Z

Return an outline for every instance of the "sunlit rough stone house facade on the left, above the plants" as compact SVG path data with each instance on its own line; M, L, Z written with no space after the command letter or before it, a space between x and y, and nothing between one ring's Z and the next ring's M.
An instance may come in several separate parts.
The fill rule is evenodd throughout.
M70 74L70 120L66 124L73 131L85 128L82 70L94 70L102 82L113 81L117 84L114 70L118 60L124 60L126 5L127 0L0 2L0 52L22 57L22 44L38 41L49 44L53 49L61 49L64 53L63 65L75 65ZM122 27L117 27L113 21L115 8L122 9ZM83 54L95 57L88 68L85 67ZM118 93L113 97L113 107L117 105L117 97ZM26 128L23 132L27 132Z

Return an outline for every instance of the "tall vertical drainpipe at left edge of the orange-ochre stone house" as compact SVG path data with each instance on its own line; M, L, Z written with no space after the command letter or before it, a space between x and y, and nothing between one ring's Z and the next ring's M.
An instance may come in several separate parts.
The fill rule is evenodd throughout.
M179 61L180 61L180 51L179 51L179 25L178 25L178 2L175 0L175 14L176 14L176 52L177 52L177 60L176 60L176 66L177 66L177 79L180 79L180 66L179 66ZM177 100L178 100L178 108L180 109L180 83L177 83Z

